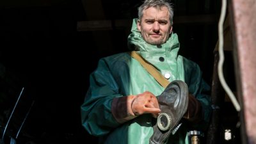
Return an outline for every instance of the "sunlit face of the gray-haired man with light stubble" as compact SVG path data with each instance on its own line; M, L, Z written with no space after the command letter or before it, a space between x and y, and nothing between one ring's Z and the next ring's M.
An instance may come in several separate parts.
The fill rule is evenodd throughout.
M163 44L172 32L168 9L164 6L160 10L153 7L143 10L143 16L141 21L138 20L137 27L143 39L149 44Z

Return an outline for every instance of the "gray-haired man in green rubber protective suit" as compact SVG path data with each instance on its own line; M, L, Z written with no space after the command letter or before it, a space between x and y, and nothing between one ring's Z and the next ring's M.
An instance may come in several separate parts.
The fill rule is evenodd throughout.
M203 94L209 86L198 65L177 54L179 40L172 33L172 6L164 0L146 0L138 10L138 20L134 19L128 37L129 48L168 81L179 79L188 84L186 124L168 138L168 143L187 143L189 130L204 130L209 122L210 98ZM90 75L90 88L81 106L83 127L99 136L100 143L148 144L154 132L152 120L161 112L156 97L163 90L128 52L102 58Z

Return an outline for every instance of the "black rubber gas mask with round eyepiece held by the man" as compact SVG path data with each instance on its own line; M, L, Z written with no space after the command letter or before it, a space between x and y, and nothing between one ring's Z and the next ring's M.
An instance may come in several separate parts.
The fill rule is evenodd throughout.
M188 86L183 81L172 81L157 97L161 113L153 126L154 133L150 137L150 144L164 144L170 134L179 129L182 116L188 109Z

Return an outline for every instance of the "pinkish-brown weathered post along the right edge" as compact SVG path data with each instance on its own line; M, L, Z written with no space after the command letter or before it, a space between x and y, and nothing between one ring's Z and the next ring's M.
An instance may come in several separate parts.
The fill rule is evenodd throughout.
M231 28L234 36L234 60L237 94L241 103L242 142L256 143L256 3L232 0Z

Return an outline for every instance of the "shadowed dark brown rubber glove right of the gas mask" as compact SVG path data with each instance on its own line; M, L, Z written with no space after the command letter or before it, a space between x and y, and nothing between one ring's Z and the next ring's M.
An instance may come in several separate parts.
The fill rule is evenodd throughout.
M189 93L188 109L183 118L186 118L191 123L200 122L204 116L202 115L201 103Z

